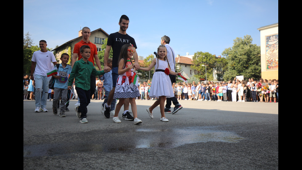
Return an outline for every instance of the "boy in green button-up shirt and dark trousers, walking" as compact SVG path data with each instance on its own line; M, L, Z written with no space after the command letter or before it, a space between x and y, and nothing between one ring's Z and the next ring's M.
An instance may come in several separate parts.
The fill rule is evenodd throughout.
M93 73L96 76L105 74L104 70L97 71L92 62L88 61L90 57L90 47L83 45L80 48L80 53L83 58L78 60L73 65L69 80L75 78L76 92L80 98L80 106L76 106L76 115L80 118L81 123L88 123L86 118L87 106L90 103L90 75ZM71 89L72 81L68 81L68 89Z

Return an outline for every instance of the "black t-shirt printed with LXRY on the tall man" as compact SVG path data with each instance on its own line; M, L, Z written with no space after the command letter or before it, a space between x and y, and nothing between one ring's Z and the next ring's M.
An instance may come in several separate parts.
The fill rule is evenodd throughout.
M120 55L120 49L124 44L132 44L136 49L137 46L135 44L134 38L130 37L128 34L120 34L119 32L112 33L108 36L107 45L111 45L112 47L112 67L118 67L118 59Z

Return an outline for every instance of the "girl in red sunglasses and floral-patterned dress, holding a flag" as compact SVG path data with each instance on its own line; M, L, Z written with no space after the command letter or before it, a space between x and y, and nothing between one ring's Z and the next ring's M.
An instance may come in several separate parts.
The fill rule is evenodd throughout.
M136 74L132 72L131 57L133 56L134 52L134 47L131 44L124 44L120 49L118 65L119 77L117 78L116 87L113 95L114 99L119 99L113 117L113 122L115 123L121 122L118 117L118 114L120 112L120 108L124 105L125 98L129 98L129 102L131 104L131 110L133 112L134 118L133 123L140 124L142 122L140 119L137 118L137 108L135 102L135 97L140 96L140 93L139 89L137 88L137 84L133 84L134 82L137 83L138 80Z

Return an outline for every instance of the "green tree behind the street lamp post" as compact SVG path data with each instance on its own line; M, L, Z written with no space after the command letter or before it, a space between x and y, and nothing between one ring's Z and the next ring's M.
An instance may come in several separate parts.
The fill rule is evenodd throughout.
M195 52L191 68L198 71L194 76L206 80L213 80L213 68L215 68L216 58L209 52ZM206 65L202 66L202 65Z

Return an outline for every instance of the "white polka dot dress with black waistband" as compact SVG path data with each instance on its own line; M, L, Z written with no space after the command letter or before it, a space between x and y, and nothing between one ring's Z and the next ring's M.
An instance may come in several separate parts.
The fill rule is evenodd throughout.
M158 68L157 68L157 64L158 64ZM156 64L154 68L155 70L156 69L165 70L166 68L168 68L168 61L156 60ZM159 96L165 96L167 98L174 97L172 83L169 75L161 71L155 72L153 74L149 96L152 98L154 97L158 98Z

